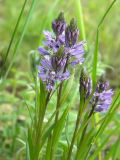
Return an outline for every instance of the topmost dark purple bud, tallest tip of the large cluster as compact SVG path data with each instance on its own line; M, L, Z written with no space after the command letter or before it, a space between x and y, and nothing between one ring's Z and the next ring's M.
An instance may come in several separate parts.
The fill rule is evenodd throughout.
M61 12L57 19L52 22L52 29L54 33L59 36L65 31L66 23L64 19L64 14Z

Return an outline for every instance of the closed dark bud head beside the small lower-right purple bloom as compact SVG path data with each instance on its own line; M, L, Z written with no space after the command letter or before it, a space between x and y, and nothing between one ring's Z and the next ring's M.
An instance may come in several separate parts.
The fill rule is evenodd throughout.
M81 71L81 76L80 76L80 96L84 97L84 100L86 100L92 91L92 83L90 77L88 77L85 72L82 70Z

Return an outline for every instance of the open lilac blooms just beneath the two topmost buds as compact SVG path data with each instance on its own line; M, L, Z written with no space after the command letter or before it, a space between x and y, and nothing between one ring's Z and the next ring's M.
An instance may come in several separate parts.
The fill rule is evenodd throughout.
M74 46L67 47L65 44L65 35L64 33L59 36L58 39L54 37L49 31L44 31L46 41L44 42L45 48L49 49L51 53L57 53L61 47L64 47L64 55L67 56L72 65L82 64L84 62L84 45L85 42L79 42ZM47 49L39 47L38 51L42 55L48 55L49 52Z

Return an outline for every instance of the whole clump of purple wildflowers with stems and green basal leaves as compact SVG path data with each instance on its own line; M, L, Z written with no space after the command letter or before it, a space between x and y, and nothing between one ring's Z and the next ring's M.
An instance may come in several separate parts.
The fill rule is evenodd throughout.
M27 155L30 160L82 160L94 157L95 151L91 145L95 145L97 141L99 148L97 135L101 127L105 127L108 113L116 107L116 104L112 105L114 91L110 89L107 81L100 79L95 84L95 79L86 71L84 61L87 42L79 42L80 31L76 20L73 18L67 24L61 12L53 20L51 27L52 32L43 32L43 45L38 47L40 61L36 64L35 114L28 130ZM72 112L70 96L73 96L70 92L71 86L76 84L73 83L76 68L81 70L81 74L77 74L80 77L79 87L77 85L75 89L79 95L79 104L73 130L69 132L68 119ZM71 101L65 103L68 98L71 98ZM75 106L77 103L73 102ZM52 112L45 122L51 104ZM106 116L101 126L95 129L98 113ZM97 156L102 154L98 152Z

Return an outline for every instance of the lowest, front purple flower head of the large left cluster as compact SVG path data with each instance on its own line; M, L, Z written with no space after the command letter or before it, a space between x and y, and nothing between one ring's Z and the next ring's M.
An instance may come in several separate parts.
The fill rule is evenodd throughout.
M69 71L64 72L66 59L58 58L55 56L49 59L41 60L41 66L38 67L39 78L46 83L47 90L54 89L55 82L62 82L69 78Z

